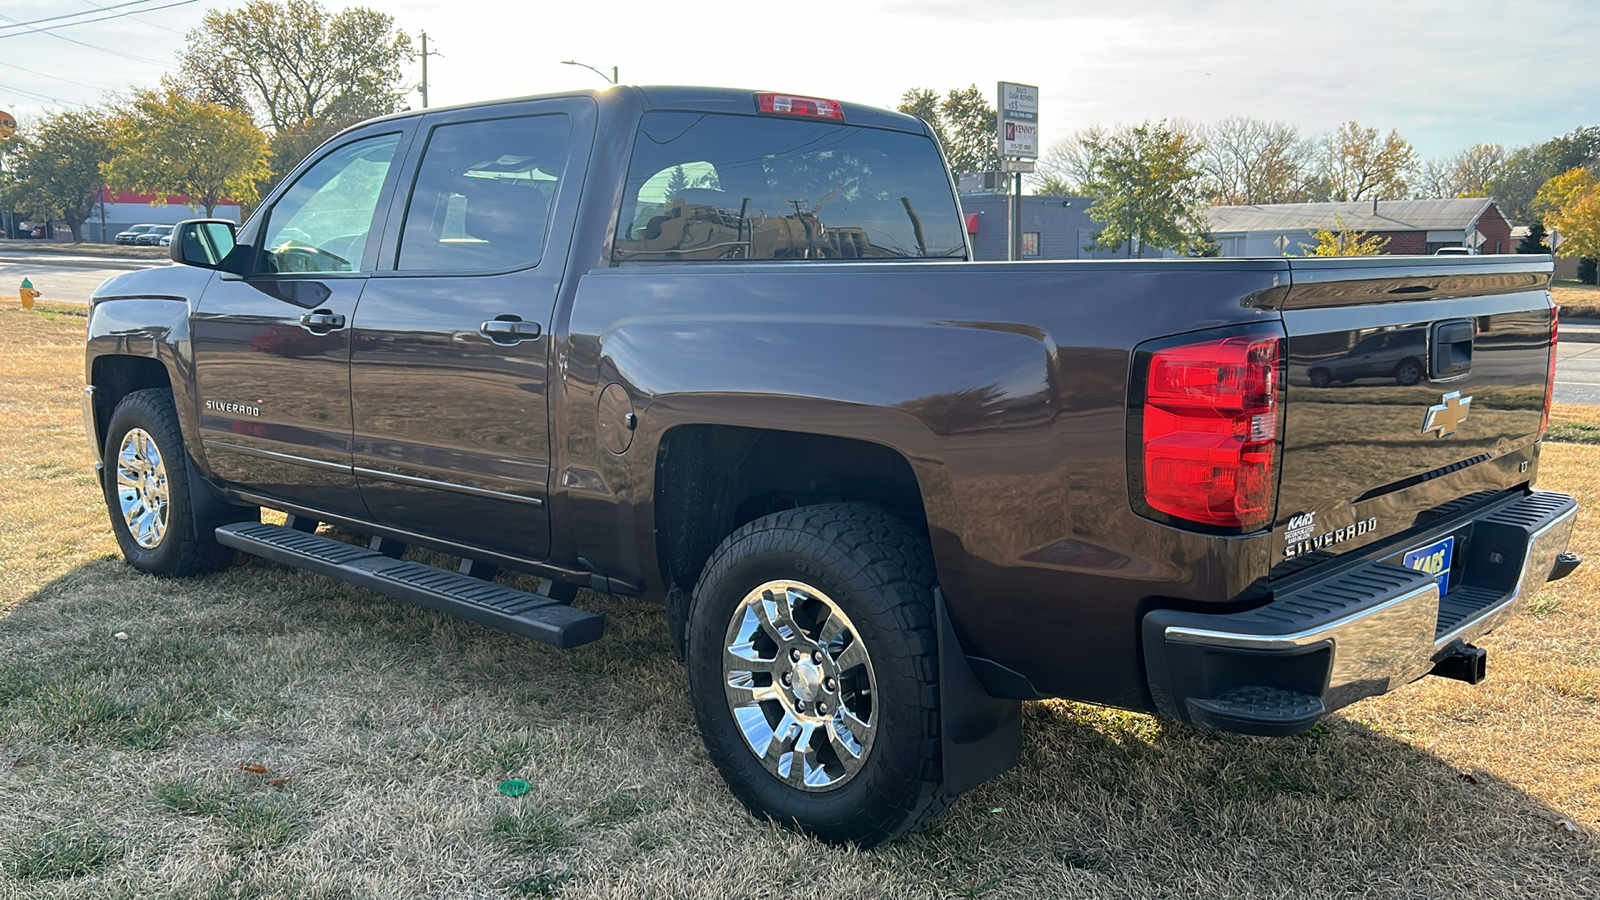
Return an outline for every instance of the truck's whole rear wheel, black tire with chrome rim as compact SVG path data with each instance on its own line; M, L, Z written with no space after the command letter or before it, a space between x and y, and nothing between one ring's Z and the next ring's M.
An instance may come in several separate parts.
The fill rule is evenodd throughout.
M926 538L878 509L757 519L688 615L690 697L750 812L866 847L938 815L938 636Z

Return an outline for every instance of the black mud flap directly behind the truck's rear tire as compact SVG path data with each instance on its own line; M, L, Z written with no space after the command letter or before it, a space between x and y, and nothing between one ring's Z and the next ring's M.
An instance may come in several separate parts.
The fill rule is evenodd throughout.
M941 791L957 796L1011 769L1022 757L1022 701L990 697L955 637L944 591L933 591L939 618Z

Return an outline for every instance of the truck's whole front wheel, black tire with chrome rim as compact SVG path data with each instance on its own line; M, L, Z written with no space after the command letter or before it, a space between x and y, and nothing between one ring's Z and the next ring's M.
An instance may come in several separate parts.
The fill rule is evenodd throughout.
M216 543L189 496L189 453L173 392L134 391L117 404L106 429L106 509L123 559L166 577L227 569L232 548Z

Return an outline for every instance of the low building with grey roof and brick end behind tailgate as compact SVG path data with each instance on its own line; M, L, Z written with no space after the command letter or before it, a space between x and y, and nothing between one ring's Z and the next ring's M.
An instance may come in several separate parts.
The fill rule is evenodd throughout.
M1206 218L1222 256L1304 256L1322 229L1387 237L1389 255L1430 255L1445 247L1517 251L1510 223L1490 197L1211 207Z

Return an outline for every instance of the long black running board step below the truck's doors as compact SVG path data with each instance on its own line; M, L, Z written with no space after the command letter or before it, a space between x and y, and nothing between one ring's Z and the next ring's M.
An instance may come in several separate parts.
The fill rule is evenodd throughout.
M283 565L371 588L390 597L459 615L560 649L598 641L605 617L573 609L554 597L384 556L378 549L318 538L266 522L238 522L216 530L218 543Z

